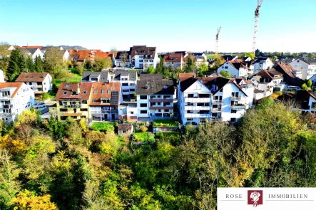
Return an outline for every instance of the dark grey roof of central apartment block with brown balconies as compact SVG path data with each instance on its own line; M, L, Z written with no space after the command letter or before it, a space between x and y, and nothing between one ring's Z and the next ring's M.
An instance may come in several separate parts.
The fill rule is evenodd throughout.
M175 93L175 83L173 80L139 80L136 93L143 95L173 95Z

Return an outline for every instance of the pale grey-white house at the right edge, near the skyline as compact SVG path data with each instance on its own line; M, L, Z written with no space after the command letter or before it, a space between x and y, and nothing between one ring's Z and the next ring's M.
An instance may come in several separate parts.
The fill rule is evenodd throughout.
M307 58L295 58L290 62L290 65L294 68L295 72L300 73L302 76L299 77L302 80L308 80L316 73L316 59Z

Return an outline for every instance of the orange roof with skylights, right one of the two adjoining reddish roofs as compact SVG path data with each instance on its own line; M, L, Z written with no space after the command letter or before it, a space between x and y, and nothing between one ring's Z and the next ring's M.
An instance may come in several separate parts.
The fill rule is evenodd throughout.
M102 93L102 90L104 93ZM96 91L96 93L95 93ZM118 100L114 102L113 94L118 95ZM91 98L89 105L119 105L121 95L121 83L92 83ZM101 103L101 98L111 98L111 103ZM93 102L93 99L96 100Z

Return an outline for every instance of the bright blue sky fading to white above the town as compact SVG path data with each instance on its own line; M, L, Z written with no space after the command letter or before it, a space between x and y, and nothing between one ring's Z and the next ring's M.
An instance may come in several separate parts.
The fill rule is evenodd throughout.
M257 0L0 0L0 42L110 51L134 45L158 52L249 52ZM257 48L316 51L315 0L263 0Z

